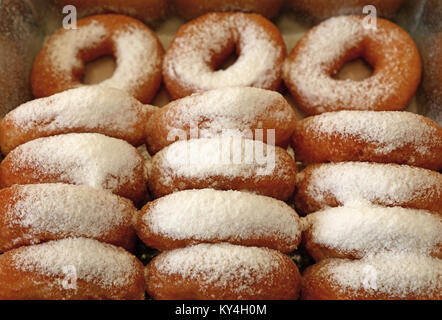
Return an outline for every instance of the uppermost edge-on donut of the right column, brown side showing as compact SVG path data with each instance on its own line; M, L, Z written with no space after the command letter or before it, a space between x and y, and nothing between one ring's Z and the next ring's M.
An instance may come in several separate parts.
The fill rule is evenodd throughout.
M293 148L304 164L398 163L442 169L442 128L405 111L338 111L298 122Z

